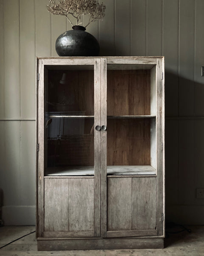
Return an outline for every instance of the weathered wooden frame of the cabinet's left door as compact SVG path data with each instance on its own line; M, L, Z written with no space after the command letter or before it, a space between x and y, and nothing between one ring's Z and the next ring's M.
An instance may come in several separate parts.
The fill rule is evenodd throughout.
M37 134L37 237L44 237L44 189L45 189L45 80L48 76L45 65L93 65L94 66L94 126L100 125L100 58L69 57L69 58L37 58L37 89L36 89L36 134ZM58 177L58 176L57 176ZM70 176L71 177L71 176ZM79 177L79 176L78 176ZM82 176L80 176L82 177ZM63 177L61 177L63 178ZM65 177L66 178L66 177ZM59 232L58 236L60 236ZM88 232L74 233L74 237L87 236ZM73 232L65 232L66 237L73 237ZM62 234L63 236L63 234ZM94 129L94 232L90 237L100 236L100 132Z

